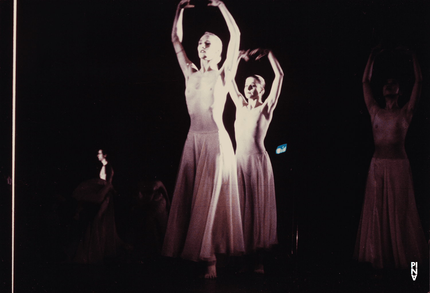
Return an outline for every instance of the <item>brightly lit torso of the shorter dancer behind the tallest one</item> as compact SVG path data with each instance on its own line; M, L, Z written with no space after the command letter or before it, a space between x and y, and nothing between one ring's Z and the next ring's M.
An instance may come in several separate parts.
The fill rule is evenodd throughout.
M264 108L263 108L264 107ZM236 153L256 154L266 151L264 138L269 128L272 115L265 114L267 105L249 109L246 106L236 109L234 132Z

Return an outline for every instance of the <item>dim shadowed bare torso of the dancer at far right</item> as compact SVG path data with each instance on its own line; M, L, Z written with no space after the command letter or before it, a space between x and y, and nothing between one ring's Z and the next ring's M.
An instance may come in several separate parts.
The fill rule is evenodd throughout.
M405 137L409 123L405 111L379 110L372 119L375 153L378 159L406 159Z

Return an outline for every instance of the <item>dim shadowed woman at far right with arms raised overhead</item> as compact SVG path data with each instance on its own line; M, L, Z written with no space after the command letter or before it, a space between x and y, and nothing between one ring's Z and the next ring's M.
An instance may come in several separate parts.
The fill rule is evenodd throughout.
M415 204L405 136L421 93L421 70L412 53L415 83L409 102L397 104L399 83L388 79L382 89L386 106L373 98L370 79L381 45L372 49L363 75L364 100L372 120L375 153L369 167L354 258L374 268L409 268L428 256Z

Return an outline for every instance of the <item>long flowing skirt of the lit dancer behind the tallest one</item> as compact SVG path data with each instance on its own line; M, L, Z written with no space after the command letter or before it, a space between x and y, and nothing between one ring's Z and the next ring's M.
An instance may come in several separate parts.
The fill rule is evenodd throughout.
M276 199L272 164L267 151L236 153L237 182L246 253L277 244Z

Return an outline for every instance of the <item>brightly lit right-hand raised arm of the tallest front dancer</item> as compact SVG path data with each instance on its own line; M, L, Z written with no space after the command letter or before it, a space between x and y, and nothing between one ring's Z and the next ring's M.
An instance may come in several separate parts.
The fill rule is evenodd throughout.
M236 25L236 22L231 16L230 12L225 7L225 4L220 0L210 0L211 3L208 6L218 6L224 16L225 22L227 22L228 30L230 31L230 42L227 48L227 58L222 65L222 69L227 74L227 72L236 73L237 68L237 57L239 56L239 43L240 43L240 31ZM229 73L230 74L230 73ZM233 75L233 74L232 74ZM234 75L233 75L234 77ZM230 77L230 78L233 78Z

